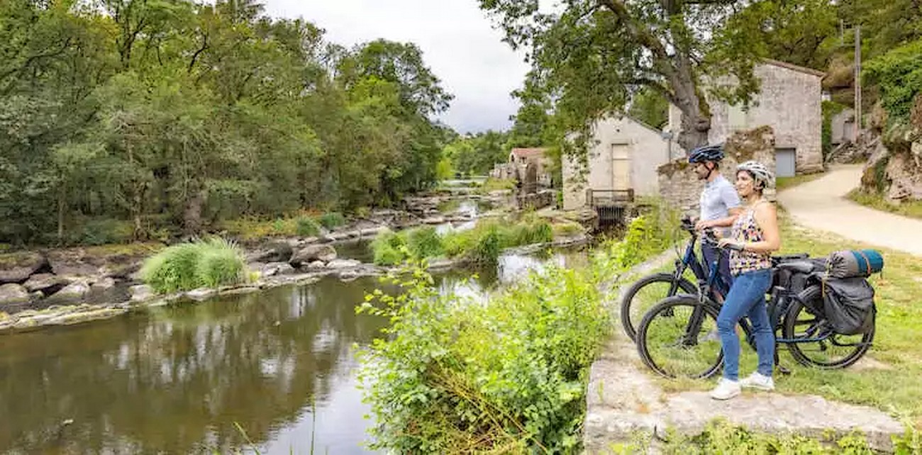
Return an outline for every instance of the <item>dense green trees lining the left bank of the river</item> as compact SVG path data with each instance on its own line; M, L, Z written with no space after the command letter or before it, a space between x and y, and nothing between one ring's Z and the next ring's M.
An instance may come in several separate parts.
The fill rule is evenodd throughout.
M393 203L453 138L439 84L413 44L345 49L253 0L2 2L0 242Z

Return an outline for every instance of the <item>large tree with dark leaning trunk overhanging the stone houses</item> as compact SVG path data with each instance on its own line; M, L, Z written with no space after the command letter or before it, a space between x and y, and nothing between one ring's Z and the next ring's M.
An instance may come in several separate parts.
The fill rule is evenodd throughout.
M710 35L737 6L731 0L573 0L556 14L538 0L479 0L500 18L506 41L530 48L531 83L555 99L568 130L611 111L623 111L636 87L656 90L681 111L679 144L707 141L711 114L702 87L733 76L712 94L746 103L758 88L754 52L709 55Z

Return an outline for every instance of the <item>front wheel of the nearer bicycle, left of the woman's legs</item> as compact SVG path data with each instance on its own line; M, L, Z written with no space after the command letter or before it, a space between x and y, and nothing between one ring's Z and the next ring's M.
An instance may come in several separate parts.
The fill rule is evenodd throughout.
M657 303L637 326L637 352L644 364L667 378L713 376L724 359L717 313L695 296Z

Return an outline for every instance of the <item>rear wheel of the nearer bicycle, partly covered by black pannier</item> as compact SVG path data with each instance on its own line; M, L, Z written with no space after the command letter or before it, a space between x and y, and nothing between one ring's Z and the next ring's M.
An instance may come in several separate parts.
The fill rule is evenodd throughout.
M806 305L805 305L806 303ZM787 340L818 339L808 343L787 343L791 356L801 365L823 369L845 368L868 353L874 340L874 326L867 333L841 335L822 315L822 289L810 286L791 302L785 315ZM873 316L872 316L873 317Z

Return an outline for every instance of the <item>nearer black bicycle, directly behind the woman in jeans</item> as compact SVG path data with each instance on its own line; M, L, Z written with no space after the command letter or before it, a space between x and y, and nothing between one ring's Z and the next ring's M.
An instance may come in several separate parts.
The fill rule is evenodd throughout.
M703 241L716 244L713 233L707 233ZM774 262L775 279L767 305L775 343L786 345L801 365L848 367L868 352L874 325L857 335L836 333L823 314L822 270L818 269L822 266L808 260ZM716 277L714 262L697 293L667 297L644 314L636 342L647 367L667 378L694 379L708 378L720 369L724 357L717 335L720 304L710 297ZM754 350L755 338L747 319L739 321L739 330Z

